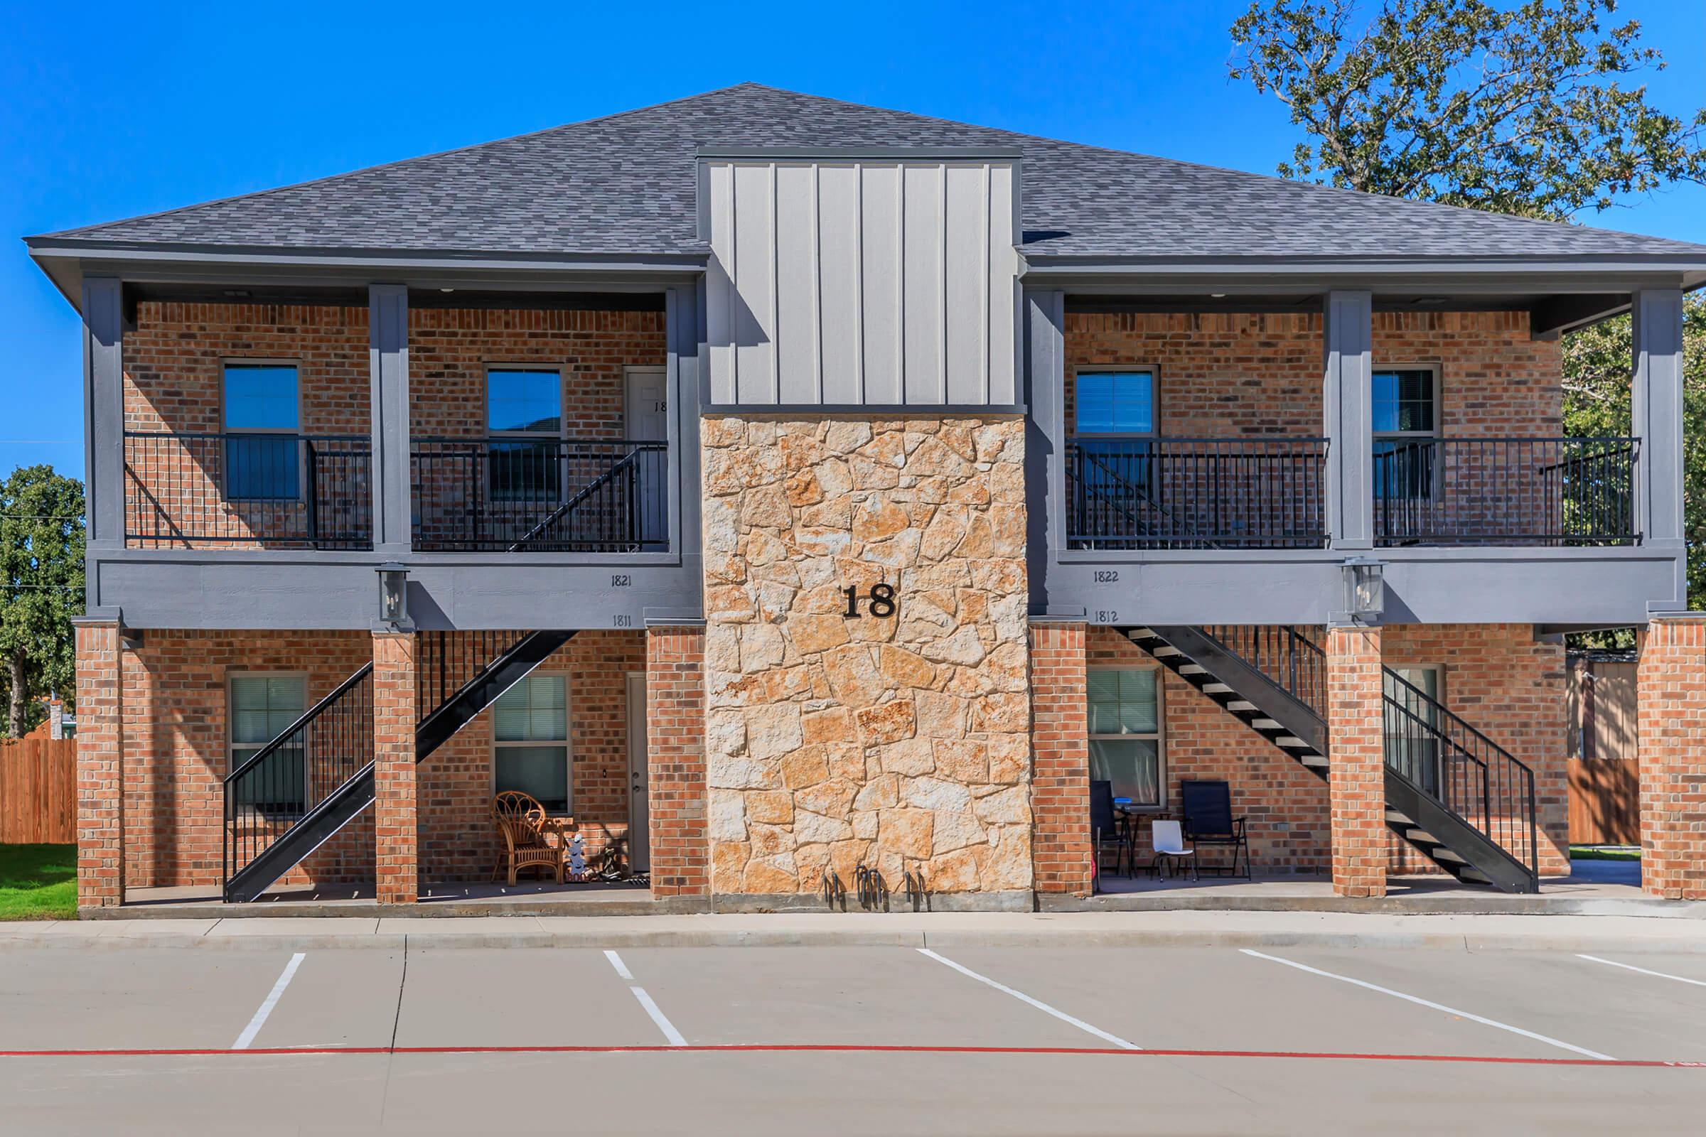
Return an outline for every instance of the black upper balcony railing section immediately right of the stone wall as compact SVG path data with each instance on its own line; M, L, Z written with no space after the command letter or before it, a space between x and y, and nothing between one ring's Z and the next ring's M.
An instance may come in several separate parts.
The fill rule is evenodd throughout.
M1324 438L1075 438L1068 549L1319 549Z

